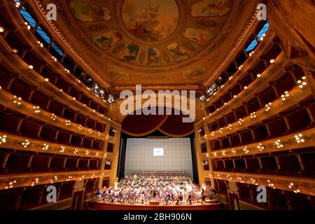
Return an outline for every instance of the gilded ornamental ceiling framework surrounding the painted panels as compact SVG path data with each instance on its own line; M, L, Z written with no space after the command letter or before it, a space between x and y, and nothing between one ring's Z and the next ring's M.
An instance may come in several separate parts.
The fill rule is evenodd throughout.
M201 82L218 66L218 62L230 52L232 48L230 43L237 43L237 36L241 36L243 30L248 29L248 21L252 20L252 14L255 12L255 6L257 6L258 3L258 1L231 1L230 12L226 16L195 18L190 15L193 2L188 0L176 0L180 14L179 25L167 38L161 41L147 43L146 41L141 41L139 38L132 36L123 25L121 15L123 1L121 0L111 1L109 3L95 0L89 1L89 3L109 8L111 19L103 22L88 22L88 24L78 22L78 20L73 17L68 6L69 1L53 1L53 3L57 3L58 6L60 6L57 16L62 18L62 20L57 20L56 22L45 21L45 7L43 6L45 6L46 3L51 3L50 1L38 3L33 0L30 2L32 6L36 6L37 10L35 10L35 14L41 18L41 22L47 25L49 29L52 29L54 35L66 46L67 50L76 55L77 59L84 60L85 66L92 69L92 72L94 72L93 76L97 77L98 80L106 80L103 81L103 83L107 83L109 87L111 87L109 81L116 84ZM188 20L190 22L187 22ZM211 30L213 29L217 34L207 47L199 46L193 43L193 41L189 41L183 37L187 26L206 30L211 27ZM114 28L123 33L122 43L124 44L133 42L141 45L141 48L160 48L162 61L164 63L163 66L148 68L141 66L142 62L138 60L136 64L121 62L120 59L115 58L115 55L122 55L123 51L120 49L124 50L124 48L120 47L121 44L119 42L113 45L109 50L100 50L97 45L92 43L87 35L92 32L101 33L102 31L114 30ZM73 30L76 30L75 34L73 34ZM232 33L233 35L228 36ZM64 34L67 35L64 36ZM244 36L241 37L244 38ZM190 59L184 62L176 63L167 52L167 44L174 41L178 42L187 52L190 52L190 54L192 54L192 52L193 54L197 51L200 52L196 55L191 55ZM113 52L116 53L111 55ZM139 57L140 53L141 52L139 52ZM84 56L81 57L79 55ZM172 60L167 58L171 58ZM170 62L173 64L167 64ZM204 67L202 73L197 71L202 67ZM113 73L112 71L115 72Z

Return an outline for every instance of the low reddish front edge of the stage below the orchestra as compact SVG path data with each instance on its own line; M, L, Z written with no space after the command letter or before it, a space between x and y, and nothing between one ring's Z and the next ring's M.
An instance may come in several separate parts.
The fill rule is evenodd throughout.
M92 210L221 210L223 204L204 203L204 204L179 204L179 205L141 205L141 204L116 204L107 202L90 202Z

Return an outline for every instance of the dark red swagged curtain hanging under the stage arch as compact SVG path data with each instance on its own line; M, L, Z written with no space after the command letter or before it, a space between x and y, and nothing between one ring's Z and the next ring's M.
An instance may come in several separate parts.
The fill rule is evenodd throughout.
M177 111L176 114L178 114ZM123 120L123 132L134 137L142 137L159 130L169 137L186 137L194 132L193 123L183 123L182 114L175 115L172 109L171 115L128 115Z

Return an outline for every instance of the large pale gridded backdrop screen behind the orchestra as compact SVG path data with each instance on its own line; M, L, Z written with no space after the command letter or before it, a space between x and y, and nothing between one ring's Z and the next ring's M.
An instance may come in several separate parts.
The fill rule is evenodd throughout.
M193 179L190 139L127 139L125 175L134 171L188 172Z

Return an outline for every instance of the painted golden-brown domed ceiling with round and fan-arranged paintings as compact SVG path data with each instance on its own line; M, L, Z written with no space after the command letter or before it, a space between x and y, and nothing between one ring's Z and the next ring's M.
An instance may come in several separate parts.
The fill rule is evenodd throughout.
M255 10L249 0L56 2L67 38L113 85L202 82Z

